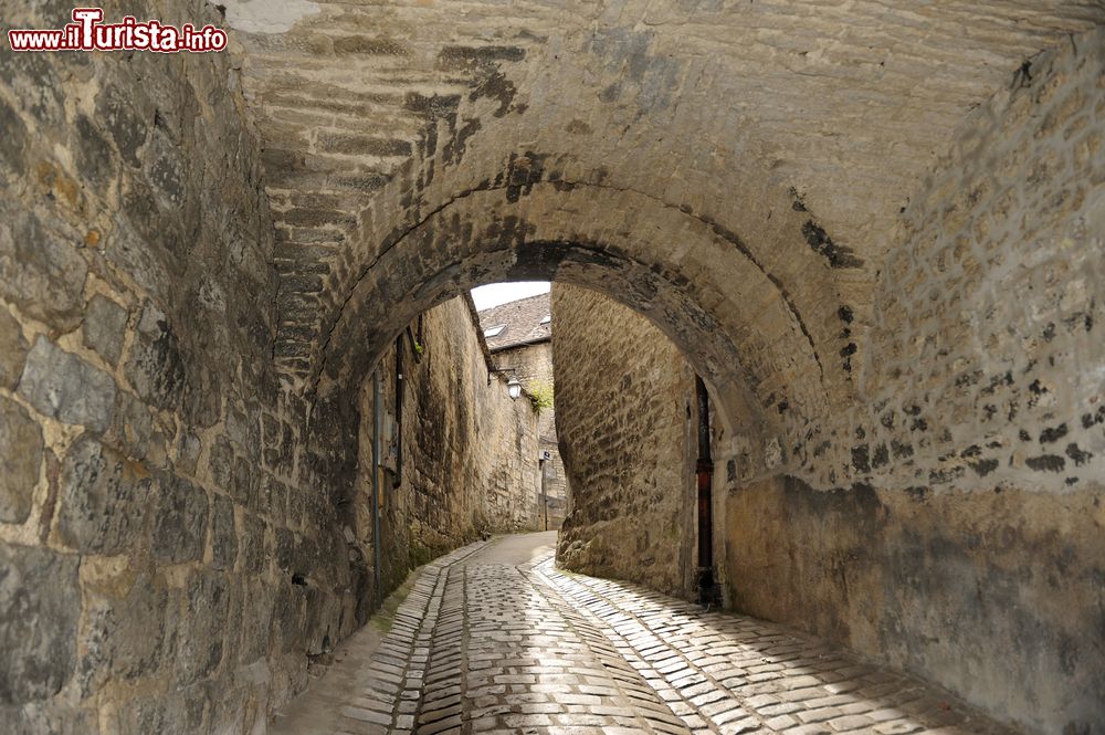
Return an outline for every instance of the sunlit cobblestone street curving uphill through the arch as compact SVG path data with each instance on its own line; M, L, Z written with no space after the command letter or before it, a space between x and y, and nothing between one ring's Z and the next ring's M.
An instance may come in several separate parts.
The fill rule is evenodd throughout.
M1006 732L785 628L560 573L554 543L507 537L428 565L370 662L339 660L274 732Z

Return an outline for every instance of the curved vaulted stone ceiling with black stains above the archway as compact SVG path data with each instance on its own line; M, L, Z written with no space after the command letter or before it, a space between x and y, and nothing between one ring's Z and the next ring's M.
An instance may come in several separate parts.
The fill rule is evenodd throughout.
M725 325L715 340L740 353L730 379L760 408L807 413L853 390L899 212L965 115L1031 75L1040 50L1105 21L1096 1L1027 0L252 0L227 13L265 150L290 380L309 390L324 366L370 359L358 343L410 311L381 294L428 305L499 277L477 267L499 248L486 235L523 222L545 231L536 240L589 234L666 267L670 304ZM463 267L440 227L460 208ZM427 249L387 255L411 242ZM389 258L412 280L380 291L370 271ZM591 285L652 307L628 284ZM708 342L671 312L651 316L695 335L688 350ZM720 359L706 355L704 369Z

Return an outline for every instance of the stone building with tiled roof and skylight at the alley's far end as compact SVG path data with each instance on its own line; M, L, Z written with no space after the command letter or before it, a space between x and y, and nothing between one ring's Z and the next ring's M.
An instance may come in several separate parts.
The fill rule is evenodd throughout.
M549 294L493 306L480 312L480 324L492 361L502 375L516 377L529 397L552 392L552 312ZM555 395L555 392L554 392ZM541 528L559 528L567 507L567 472L557 441L556 407L539 411L538 434Z

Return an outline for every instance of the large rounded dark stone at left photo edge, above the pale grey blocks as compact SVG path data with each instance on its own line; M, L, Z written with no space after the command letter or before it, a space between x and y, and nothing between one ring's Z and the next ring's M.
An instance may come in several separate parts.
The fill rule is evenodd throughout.
M88 265L76 248L80 235L61 223L48 229L27 209L2 209L0 294L28 316L70 330L81 323Z

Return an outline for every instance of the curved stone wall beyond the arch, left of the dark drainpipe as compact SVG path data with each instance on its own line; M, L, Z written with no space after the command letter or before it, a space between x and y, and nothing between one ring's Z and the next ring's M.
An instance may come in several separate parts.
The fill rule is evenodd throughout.
M568 475L561 566L690 596L694 372L644 317L552 286L557 426Z

